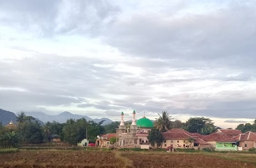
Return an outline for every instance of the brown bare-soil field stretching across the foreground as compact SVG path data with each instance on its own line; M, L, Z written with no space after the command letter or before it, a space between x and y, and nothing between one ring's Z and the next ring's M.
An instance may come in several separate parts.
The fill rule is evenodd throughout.
M0 167L256 167L255 154L120 151L19 151L0 154Z

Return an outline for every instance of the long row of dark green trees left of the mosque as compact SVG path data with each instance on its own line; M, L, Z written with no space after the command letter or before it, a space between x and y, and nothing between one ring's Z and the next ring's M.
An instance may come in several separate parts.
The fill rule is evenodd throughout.
M106 133L103 122L95 123L81 118L68 119L66 123L53 121L40 125L35 118L22 112L17 116L17 128L7 128L0 123L0 148L17 148L20 144L49 142L51 135L58 135L61 142L74 145L84 138L95 142L97 135Z

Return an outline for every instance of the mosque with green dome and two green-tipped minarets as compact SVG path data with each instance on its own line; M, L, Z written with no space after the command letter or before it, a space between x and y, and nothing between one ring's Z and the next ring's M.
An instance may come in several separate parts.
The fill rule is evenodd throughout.
M149 144L147 136L148 132L154 126L153 122L145 117L136 121L136 112L132 112L131 125L124 123L124 112L121 112L121 122L116 129L116 135L118 137L117 146L120 147L138 147L143 144Z

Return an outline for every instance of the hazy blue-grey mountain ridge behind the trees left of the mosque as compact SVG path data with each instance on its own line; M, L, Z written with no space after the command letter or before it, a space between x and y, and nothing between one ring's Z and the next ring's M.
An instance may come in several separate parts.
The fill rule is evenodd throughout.
M100 121L105 120L102 125L107 125L113 122L109 118L92 119L92 118L89 118L88 116L72 114L71 112L68 112L68 111L61 112L61 114L58 114L58 115L49 115L49 114L45 114L44 112L24 112L24 113L26 114L26 116L33 116L33 118L38 118L44 123L47 123L47 121L49 122L56 121L58 123L65 123L67 119L70 119L70 118L72 119L85 118L87 121L95 121L96 123L99 123Z

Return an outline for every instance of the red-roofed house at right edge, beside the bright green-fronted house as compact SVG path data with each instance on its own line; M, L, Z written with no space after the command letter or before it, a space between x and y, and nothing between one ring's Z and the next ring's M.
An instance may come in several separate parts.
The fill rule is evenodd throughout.
M232 139L239 141L238 146L243 150L256 148L256 134L254 132L248 131L244 134L236 135Z

